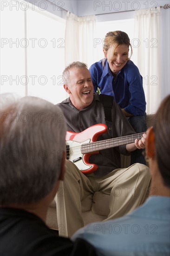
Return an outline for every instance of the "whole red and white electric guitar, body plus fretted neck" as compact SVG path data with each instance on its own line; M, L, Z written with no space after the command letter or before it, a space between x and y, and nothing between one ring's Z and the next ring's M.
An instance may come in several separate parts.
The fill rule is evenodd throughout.
M141 139L144 133L127 135L123 137L97 141L98 136L107 133L105 124L96 124L81 133L67 131L66 133L66 159L76 164L78 169L85 174L97 170L98 165L89 163L92 154L98 154L99 150L114 148L120 145L133 143L136 139Z

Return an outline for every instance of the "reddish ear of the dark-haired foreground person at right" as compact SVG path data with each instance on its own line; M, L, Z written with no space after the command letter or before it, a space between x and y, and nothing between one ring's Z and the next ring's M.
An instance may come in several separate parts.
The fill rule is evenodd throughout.
M147 130L147 139L146 139L146 157L155 158L155 133L153 127L148 128Z

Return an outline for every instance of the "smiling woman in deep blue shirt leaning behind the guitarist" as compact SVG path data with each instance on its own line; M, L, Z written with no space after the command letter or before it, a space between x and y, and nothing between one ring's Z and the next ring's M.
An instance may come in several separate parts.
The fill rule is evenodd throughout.
M146 102L142 76L137 66L130 60L129 36L122 31L108 32L105 36L103 52L105 58L89 68L94 91L113 96L131 126L137 133L145 132ZM139 162L146 164L143 149L131 154L131 165Z

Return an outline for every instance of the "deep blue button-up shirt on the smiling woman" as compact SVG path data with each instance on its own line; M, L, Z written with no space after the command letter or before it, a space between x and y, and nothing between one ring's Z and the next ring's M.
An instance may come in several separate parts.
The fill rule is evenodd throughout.
M107 59L105 66L102 61L92 64L89 68L94 91L97 92L99 88L102 94L113 96L120 108L132 115L145 115L144 88L137 66L132 61L127 61L114 79Z

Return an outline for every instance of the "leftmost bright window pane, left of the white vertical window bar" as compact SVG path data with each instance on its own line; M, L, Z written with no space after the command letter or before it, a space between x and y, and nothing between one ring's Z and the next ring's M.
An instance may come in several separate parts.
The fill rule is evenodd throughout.
M22 76L25 75L25 48L21 46L25 37L24 11L17 10L14 6L11 8L1 6L0 13L0 93L12 92L25 96L26 89L22 84Z

